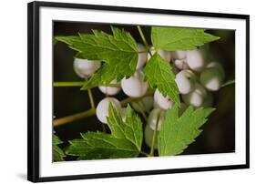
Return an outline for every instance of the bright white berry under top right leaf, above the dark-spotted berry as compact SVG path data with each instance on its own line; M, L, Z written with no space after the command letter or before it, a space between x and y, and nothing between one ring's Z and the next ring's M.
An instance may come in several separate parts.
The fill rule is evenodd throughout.
M200 50L189 50L187 51L187 63L189 68L200 72L205 67L205 61L203 59Z

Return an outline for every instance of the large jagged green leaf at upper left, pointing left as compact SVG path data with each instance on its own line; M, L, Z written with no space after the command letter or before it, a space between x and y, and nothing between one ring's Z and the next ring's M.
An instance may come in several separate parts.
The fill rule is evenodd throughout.
M113 36L93 30L93 34L79 36L57 36L56 40L66 43L77 50L79 56L91 60L100 60L104 64L85 82L82 89L109 84L134 74L138 62L138 46L134 38L126 31L111 27Z

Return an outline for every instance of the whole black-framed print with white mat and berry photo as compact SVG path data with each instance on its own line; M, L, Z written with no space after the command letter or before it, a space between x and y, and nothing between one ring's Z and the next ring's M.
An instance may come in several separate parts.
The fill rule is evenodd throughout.
M249 168L249 15L28 4L28 179Z

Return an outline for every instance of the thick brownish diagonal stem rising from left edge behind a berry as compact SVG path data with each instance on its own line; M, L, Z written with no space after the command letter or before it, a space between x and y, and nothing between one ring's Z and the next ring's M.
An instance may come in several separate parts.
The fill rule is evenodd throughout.
M151 96L152 94L153 94L153 92L149 91L143 97ZM128 97L128 98L120 101L120 103L121 103L122 106L126 106L128 103L138 101L138 100L142 99L143 97L138 97L138 98ZM70 115L70 116L67 116L67 117L56 118L54 120L54 127L64 125L64 124L67 124L67 123L70 123L70 122L73 122L73 121L76 121L76 120L79 120L79 119L95 116L95 113L96 113L95 109L91 108L87 111L80 112L80 113L77 113L77 114L73 114L73 115Z

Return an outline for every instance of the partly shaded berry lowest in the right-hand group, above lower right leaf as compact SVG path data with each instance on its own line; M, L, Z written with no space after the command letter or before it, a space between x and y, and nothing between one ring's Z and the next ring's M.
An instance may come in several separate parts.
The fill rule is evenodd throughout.
M189 94L182 95L182 99L187 105L201 107L206 95L206 89L200 86L200 84L196 84L193 91L191 91Z

